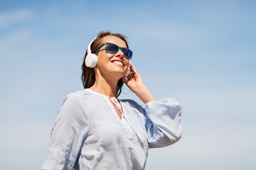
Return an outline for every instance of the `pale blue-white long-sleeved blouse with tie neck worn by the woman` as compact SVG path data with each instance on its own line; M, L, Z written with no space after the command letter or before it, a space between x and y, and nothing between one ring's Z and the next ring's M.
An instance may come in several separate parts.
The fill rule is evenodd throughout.
M145 108L119 101L123 121L108 96L90 89L68 94L41 169L144 169L149 148L181 138L181 106L174 98L151 101Z

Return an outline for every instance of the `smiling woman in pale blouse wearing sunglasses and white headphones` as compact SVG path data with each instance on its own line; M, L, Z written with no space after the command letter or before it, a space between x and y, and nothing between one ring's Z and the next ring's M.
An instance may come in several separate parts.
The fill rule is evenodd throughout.
M149 148L180 139L178 102L156 101L131 58L123 35L101 32L90 43L82 64L85 89L64 98L41 169L144 169ZM123 83L145 108L117 99Z

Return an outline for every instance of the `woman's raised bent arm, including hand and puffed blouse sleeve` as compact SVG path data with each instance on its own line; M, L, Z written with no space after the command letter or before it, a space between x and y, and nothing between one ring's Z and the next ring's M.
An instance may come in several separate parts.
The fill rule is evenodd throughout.
M144 111L139 109L139 112L144 113L149 147L166 147L174 144L182 134L180 104L174 98L156 101L146 88L137 69L132 62L130 64L132 77L128 76L127 79L123 77L122 81L146 104Z

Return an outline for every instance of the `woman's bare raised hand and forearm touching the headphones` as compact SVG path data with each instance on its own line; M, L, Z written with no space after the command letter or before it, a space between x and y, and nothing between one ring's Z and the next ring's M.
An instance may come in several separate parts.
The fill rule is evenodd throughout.
M156 101L154 96L151 95L149 90L146 88L141 75L137 72L137 69L134 67L132 62L129 62L129 67L131 69L131 75L128 77L122 77L122 81L126 84L129 89L134 92L144 103L149 101Z

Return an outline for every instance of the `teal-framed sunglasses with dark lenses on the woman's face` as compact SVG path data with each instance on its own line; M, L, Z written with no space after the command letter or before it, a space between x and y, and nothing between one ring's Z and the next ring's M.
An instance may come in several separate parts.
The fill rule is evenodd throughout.
M98 47L97 50L95 50L95 52L101 51L100 48L103 47L104 45L105 45L106 52L114 55L114 54L117 54L119 50L121 50L124 53L124 58L126 58L127 60L132 59L132 50L129 50L129 48L126 48L126 47L118 47L117 45L111 42L105 42L104 44L102 44L102 46ZM95 53L95 52L92 52L92 53Z

